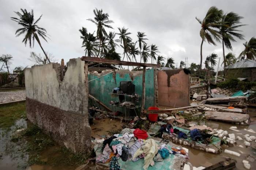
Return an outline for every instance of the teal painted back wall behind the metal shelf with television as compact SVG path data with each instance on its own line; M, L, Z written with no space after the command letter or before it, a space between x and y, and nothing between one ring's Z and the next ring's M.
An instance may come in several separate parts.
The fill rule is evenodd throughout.
M113 88L119 87L120 81L132 81L133 84L135 84L135 93L139 94L139 104L141 104L141 95L142 95L142 72L141 74L135 73L138 76L133 75L133 80L130 77L131 73L134 73L135 71L129 72L127 70L127 73L123 74L124 70L120 70L116 72L116 81L113 78L113 73L110 73L104 77L98 78L96 80L93 80L97 78L93 73L90 73L88 75L88 80L93 80L89 82L89 93L97 98L99 101L107 105L110 109L113 110L113 107L109 105L109 102L111 100L116 101L118 100L118 97L116 95L110 95L109 93L112 92ZM104 75L106 73L103 73ZM154 69L146 70L145 74L145 85L146 85L146 98L145 98L145 108L148 108L150 106L154 106ZM127 99L127 101L129 101ZM89 101L90 104L95 104L93 101ZM135 103L136 104L136 103ZM98 104L95 104L99 106ZM115 108L115 111L123 111L123 108Z

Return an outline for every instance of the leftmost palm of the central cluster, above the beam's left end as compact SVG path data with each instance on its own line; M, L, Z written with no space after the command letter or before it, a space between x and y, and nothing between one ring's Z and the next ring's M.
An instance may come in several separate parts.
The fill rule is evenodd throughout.
M89 57L91 57L92 55L95 56L97 47L98 47L98 42L97 42L97 37L94 36L94 32L93 32L93 34L91 34L91 33L87 34L86 37L80 36L80 38L83 39L82 47L85 47L84 51L86 51L86 53L88 53L88 56ZM86 53L85 53L85 55L86 55Z

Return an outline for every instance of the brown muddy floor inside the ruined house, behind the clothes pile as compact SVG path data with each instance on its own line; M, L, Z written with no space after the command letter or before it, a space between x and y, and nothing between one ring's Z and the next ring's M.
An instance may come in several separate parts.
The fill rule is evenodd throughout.
M109 134L114 134L114 132L121 131L122 125L125 123L120 122L120 119L114 118L104 118L95 119L91 127L91 137L93 138L105 138Z

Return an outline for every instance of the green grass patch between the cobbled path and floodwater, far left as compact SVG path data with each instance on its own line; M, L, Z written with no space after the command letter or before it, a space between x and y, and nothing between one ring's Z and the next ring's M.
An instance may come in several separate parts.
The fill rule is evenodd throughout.
M0 128L9 129L20 118L26 118L26 102L0 105Z

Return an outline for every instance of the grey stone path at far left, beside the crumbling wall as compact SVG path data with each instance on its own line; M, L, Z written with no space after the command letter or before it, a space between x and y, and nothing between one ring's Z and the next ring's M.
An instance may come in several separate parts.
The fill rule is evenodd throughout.
M0 104L19 100L26 100L25 90L0 92Z

